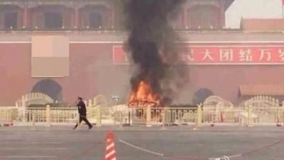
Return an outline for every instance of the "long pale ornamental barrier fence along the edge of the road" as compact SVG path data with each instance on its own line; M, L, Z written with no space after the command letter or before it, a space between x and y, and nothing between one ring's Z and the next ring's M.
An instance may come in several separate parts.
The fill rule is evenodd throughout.
M77 107L0 107L0 124L57 125L75 124ZM283 124L284 107L87 107L87 118L97 126L146 125L206 125Z

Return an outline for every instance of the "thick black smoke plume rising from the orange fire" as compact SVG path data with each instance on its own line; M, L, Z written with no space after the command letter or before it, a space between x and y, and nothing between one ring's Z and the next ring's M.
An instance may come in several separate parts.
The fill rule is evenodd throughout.
M170 14L178 9L182 0L122 0L126 11L126 28L132 65L136 70L131 78L132 90L146 80L152 92L168 105L178 88L185 82L186 72L178 60L175 41L178 36L170 27Z

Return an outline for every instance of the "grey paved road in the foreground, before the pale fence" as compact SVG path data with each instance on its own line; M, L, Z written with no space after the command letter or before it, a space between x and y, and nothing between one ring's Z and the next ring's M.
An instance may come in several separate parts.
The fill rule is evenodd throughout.
M117 160L284 159L284 127L218 126L0 127L0 159L104 160L109 130Z

